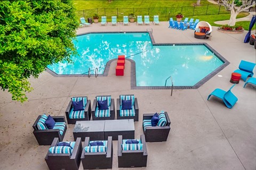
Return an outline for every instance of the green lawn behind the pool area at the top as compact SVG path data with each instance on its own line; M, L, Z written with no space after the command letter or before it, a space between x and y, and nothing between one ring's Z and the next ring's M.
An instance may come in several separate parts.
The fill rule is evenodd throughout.
M196 6L194 1L74 1L78 17L92 18L94 13L100 16L106 15L108 21L111 16L116 15L118 20L123 20L124 15L135 13L135 15L149 15L153 20L153 15L159 15L160 21L167 21L169 17L175 18L178 12L182 12L185 17L207 21L212 26L215 21L229 20L230 14L223 6L213 5L208 1L201 0L201 5ZM245 17L249 13L240 13L237 18ZM236 25L248 30L250 21L237 22ZM255 29L255 26L254 26Z

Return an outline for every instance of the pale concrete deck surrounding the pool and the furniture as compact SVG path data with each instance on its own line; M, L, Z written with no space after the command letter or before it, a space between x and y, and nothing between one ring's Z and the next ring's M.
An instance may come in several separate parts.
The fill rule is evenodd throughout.
M24 103L11 100L11 95L0 91L0 169L48 169L45 155L49 145L38 145L32 125L38 115L65 116L71 96L134 94L139 103L139 122L135 122L135 138L142 131L142 114L161 110L168 112L171 131L167 142L147 143L148 161L143 168L120 169L252 169L256 168L256 91L244 82L233 88L238 102L232 109L223 102L207 96L215 89L228 90L231 72L239 62L255 62L255 49L243 43L243 34L220 33L213 27L211 41L194 38L194 30L168 28L161 25L100 26L100 23L77 30L89 31L146 31L153 28L156 43L207 43L226 58L230 64L198 89L131 90L131 63L125 65L123 77L115 76L113 61L107 77L54 77L44 71L38 79L31 78L34 90ZM255 33L255 30L254 30ZM171 54L170 54L171 55ZM87 69L86 69L87 70ZM254 69L255 73L255 69ZM254 75L255 77L255 75ZM66 117L66 116L65 116ZM63 141L73 141L74 125L68 129ZM113 142L113 169L118 169L117 141ZM83 169L82 163L79 169Z

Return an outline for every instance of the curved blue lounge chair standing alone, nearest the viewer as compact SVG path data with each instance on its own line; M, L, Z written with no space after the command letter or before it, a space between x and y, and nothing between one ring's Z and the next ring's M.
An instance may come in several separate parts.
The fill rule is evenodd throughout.
M223 100L223 102L225 103L225 105L227 106L227 108L231 109L237 102L237 97L231 92L231 89L235 86L236 84L234 84L233 86L231 86L229 88L229 90L223 91L220 88L216 88L207 98L207 100L209 100L211 95L216 96L217 98L220 98L221 100Z

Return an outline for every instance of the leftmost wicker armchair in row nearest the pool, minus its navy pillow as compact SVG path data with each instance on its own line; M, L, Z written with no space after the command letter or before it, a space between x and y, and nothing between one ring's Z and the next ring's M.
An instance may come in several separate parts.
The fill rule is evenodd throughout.
M79 112L81 110L73 111L72 101L75 101L75 99L77 98L79 100L84 100L84 112L83 112L84 115L81 115L79 113L76 114L76 112ZM75 115L79 115L79 117L83 117L83 118L76 117ZM69 101L68 107L66 109L66 117L67 117L68 124L76 124L76 121L81 121L81 120L90 120L91 119L91 100L87 100L87 97L85 96L71 98L71 100Z

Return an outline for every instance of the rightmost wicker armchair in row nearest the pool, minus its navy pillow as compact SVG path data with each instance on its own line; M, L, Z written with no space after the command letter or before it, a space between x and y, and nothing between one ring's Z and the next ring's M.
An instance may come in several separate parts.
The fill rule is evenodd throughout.
M121 109L121 102L122 100L121 99L131 99L132 100L132 109L131 110L128 110L129 114L135 114L134 116L122 116L122 115L125 115L125 110L122 110ZM119 99L116 100L116 112L117 112L117 119L134 119L134 122L135 121L139 121L139 106L138 106L138 100L137 98L134 98L134 95L131 94L131 95L120 95L119 96ZM120 112L120 109L121 109L121 112Z

